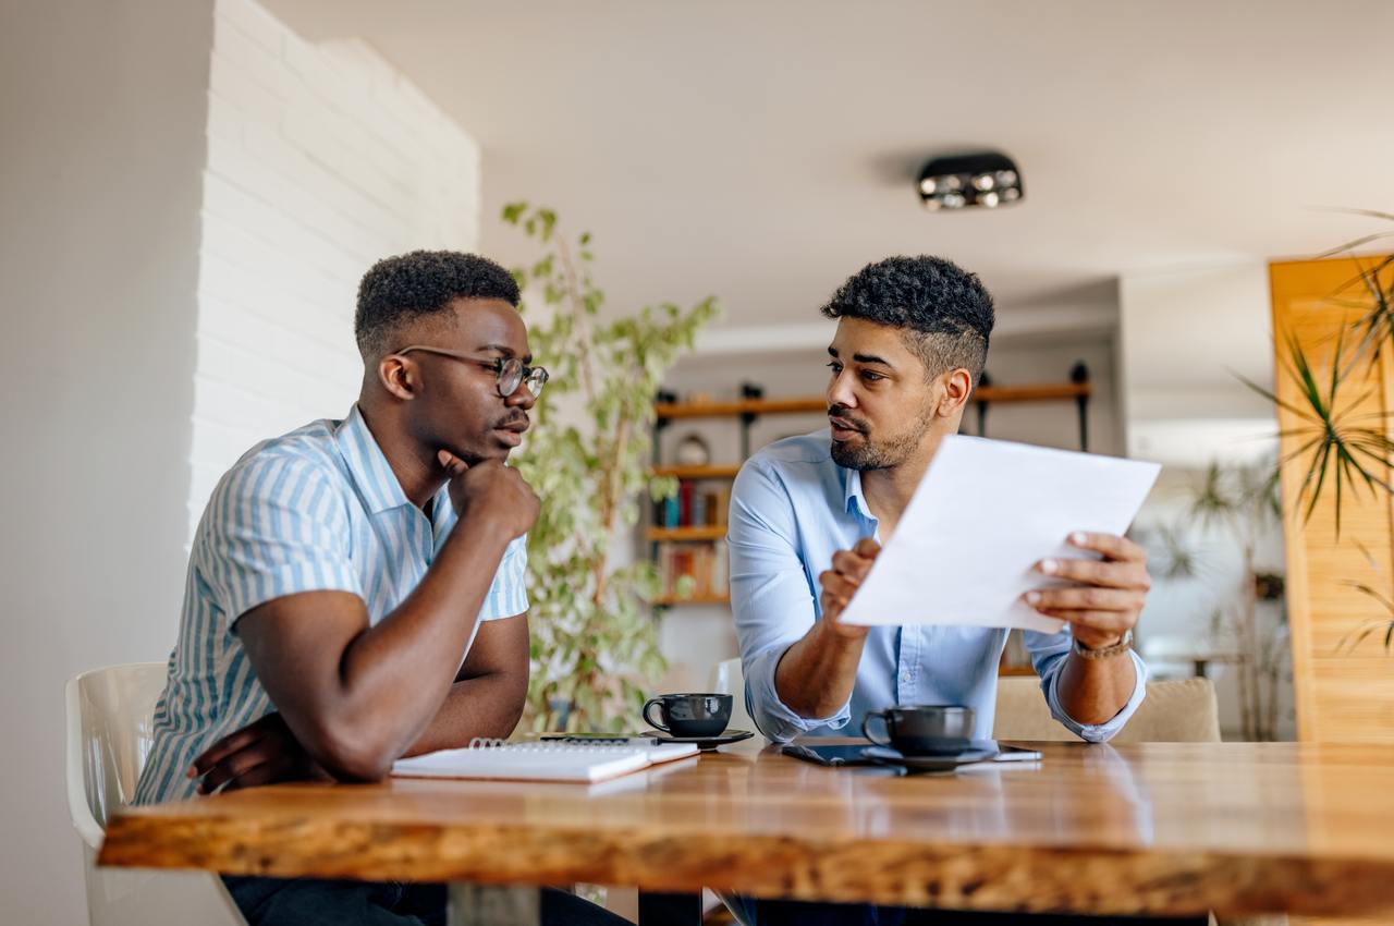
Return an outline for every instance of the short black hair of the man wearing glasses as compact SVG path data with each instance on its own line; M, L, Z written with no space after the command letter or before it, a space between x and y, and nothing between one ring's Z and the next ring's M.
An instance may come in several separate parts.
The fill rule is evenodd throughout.
M393 331L422 315L445 314L457 298L519 304L513 275L493 261L460 251L411 251L383 258L358 283L353 333L364 360L392 350ZM400 344L396 344L400 347Z

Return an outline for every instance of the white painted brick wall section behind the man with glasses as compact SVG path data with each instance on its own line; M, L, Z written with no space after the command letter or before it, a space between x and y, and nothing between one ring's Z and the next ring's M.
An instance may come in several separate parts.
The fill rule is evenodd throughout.
M480 227L478 145L368 46L217 0L209 84L190 536L247 448L348 410L364 271Z

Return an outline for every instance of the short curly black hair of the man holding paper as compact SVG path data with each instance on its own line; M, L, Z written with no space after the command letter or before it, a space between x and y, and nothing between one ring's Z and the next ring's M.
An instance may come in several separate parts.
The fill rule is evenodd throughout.
M976 273L938 257L867 264L822 307L828 318L861 318L906 329L926 378L967 370L977 386L993 335L993 297Z

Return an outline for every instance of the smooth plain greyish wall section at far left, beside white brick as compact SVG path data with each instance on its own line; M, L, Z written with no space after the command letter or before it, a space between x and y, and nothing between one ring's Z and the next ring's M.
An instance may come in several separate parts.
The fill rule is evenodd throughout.
M0 919L85 922L63 682L184 584L212 0L0 6Z

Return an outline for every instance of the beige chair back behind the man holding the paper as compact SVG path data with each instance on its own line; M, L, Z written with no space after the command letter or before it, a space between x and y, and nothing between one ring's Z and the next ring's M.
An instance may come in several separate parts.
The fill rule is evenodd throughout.
M997 739L1078 741L1046 706L1040 679L1012 676L997 681L997 714L993 722ZM1217 743L1220 708L1210 679L1188 678L1149 682L1147 697L1115 743Z

